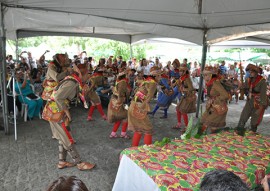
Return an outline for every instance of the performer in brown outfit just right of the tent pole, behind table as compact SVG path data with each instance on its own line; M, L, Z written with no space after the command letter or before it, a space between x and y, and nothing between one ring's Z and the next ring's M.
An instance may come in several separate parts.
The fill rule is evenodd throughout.
M201 120L202 132L208 129L208 133L215 133L226 125L229 94L220 83L217 74L217 69L212 66L203 70L208 99Z

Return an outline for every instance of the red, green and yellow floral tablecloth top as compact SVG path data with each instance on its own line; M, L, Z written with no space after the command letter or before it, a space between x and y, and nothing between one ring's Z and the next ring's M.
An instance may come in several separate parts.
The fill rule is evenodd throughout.
M250 188L270 173L270 138L254 133L241 137L222 132L200 139L173 140L163 147L128 148L122 155L143 169L161 191L199 190L202 177L214 169L234 172Z

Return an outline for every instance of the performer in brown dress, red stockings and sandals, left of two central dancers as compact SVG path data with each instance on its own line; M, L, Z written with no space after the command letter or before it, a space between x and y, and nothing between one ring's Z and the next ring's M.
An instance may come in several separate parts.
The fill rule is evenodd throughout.
M127 135L127 110L124 108L125 103L127 103L130 95L131 88L126 78L125 68L121 69L117 76L115 87L113 88L113 95L111 97L109 107L108 107L108 121L114 123L113 130L110 134L110 138L118 138L116 134L119 126L122 122L122 132L120 137L125 139L130 139Z

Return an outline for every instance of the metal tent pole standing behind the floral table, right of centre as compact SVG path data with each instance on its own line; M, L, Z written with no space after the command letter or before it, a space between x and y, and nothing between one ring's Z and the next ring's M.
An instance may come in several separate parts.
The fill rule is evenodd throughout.
M203 91L203 89L202 89L202 87L203 87L202 71L204 70L205 61L206 61L206 55L207 55L206 37L207 37L207 30L204 30L204 33L203 33L203 47L202 47L202 65L201 65L200 84L199 84L199 92L198 92L198 99L197 99L197 110L196 110L196 117L197 118L199 116L201 97L202 97L202 91Z

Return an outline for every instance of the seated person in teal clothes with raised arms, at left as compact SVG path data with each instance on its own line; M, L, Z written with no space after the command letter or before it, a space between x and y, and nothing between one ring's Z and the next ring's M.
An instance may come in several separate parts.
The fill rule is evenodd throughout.
M16 80L18 83L15 84L15 91L19 94L20 102L28 105L28 118L32 119L33 117L39 117L43 101L34 94L28 77L29 74L26 72L16 72Z

